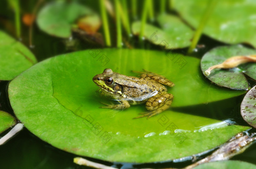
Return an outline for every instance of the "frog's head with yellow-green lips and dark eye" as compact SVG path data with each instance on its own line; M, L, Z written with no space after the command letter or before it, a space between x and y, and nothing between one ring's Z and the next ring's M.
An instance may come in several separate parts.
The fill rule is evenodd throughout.
M103 89L108 94L112 95L122 95L122 87L120 84L115 82L117 75L119 73L113 72L110 68L107 68L103 71L102 74L97 74L92 78L94 83Z

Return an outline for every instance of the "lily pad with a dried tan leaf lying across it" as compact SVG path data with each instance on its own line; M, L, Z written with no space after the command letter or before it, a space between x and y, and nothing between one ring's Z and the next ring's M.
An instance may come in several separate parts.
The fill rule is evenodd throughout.
M201 70L204 73L211 66L221 64L232 56L252 55L255 53L256 50L245 48L242 45L217 47L203 56L201 60ZM249 85L244 73L249 76L255 76L255 72L255 63L244 63L243 65L238 66L238 68L213 69L211 74L206 77L219 86L238 90L248 90Z

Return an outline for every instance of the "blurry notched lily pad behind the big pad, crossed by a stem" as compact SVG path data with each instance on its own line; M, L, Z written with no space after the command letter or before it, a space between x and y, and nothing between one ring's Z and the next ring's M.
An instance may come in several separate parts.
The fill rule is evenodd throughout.
M151 43L164 46L166 49L185 48L191 43L193 30L173 15L159 15L157 18L161 28L146 24L144 37ZM132 25L133 34L138 35L141 30L140 21Z

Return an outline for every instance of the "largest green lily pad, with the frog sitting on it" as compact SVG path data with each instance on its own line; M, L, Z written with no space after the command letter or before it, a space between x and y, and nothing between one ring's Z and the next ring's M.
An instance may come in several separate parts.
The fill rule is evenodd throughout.
M180 68L174 58L151 50L95 49L60 55L11 81L10 103L18 119L40 139L74 154L107 161L152 162L191 156L249 129L171 109L150 119L133 119L146 111L144 105L123 111L99 108L100 101L110 100L97 96L92 78L104 68L125 75L145 68L166 76L175 83L169 88L173 107L244 93L223 90L199 78L197 58L168 56L182 57L187 64ZM157 65L162 65L161 69Z

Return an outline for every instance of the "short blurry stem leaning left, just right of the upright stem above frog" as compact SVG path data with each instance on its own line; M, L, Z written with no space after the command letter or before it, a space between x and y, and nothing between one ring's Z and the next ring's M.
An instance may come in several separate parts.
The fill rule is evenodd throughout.
M122 8L122 6L123 6L123 8ZM127 34L131 35L131 28L130 28L130 22L129 22L129 17L128 17L126 0L122 0L122 6L118 2L118 8L119 8L120 17L122 19L123 26L124 26Z

